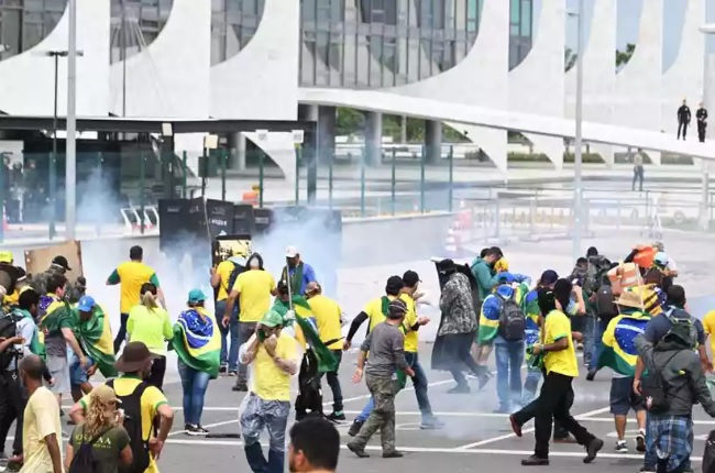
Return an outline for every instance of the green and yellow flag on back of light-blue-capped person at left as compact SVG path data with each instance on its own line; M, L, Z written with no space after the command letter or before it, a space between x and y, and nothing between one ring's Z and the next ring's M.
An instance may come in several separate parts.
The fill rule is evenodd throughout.
M118 373L114 369L117 362L114 343L109 317L106 316L105 309L96 305L89 320L81 320L79 311L75 308L73 309L73 317L75 336L87 355L97 363L97 369L102 376L116 377Z

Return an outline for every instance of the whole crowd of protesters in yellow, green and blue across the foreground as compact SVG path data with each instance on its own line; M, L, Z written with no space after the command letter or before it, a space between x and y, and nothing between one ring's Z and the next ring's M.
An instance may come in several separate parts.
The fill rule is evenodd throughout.
M178 359L186 435L209 435L201 417L210 381L235 376L232 388L248 393L240 425L252 471L284 471L292 410L298 424L290 429L290 470L318 465L334 471L340 444L334 424L346 420L338 372L365 321L352 381L364 378L371 396L350 425L348 449L369 457L366 444L380 430L382 457L403 457L396 448L395 397L407 378L421 413L420 429L444 427L432 413L419 358L419 330L430 319L418 315L418 306L430 302L416 272L391 276L384 294L365 304L343 337L340 305L322 294L316 272L295 246L287 249L277 278L260 254L232 255L211 270L213 297L190 290L174 322L155 271L142 262L142 249L132 248L129 256L107 279L107 285L120 285L116 338L109 311L86 294L87 282L68 280L72 268L64 256L41 275L15 268L11 284L0 286L1 446L16 420L8 471L80 472L101 465L96 471L109 473L124 465L157 472L174 424L163 393L168 351ZM441 319L431 369L451 373L450 394L472 391L465 374L475 377L479 391L495 380L495 411L509 416L517 437L534 420L536 446L522 465L548 465L552 440L583 446L585 463L604 448L603 439L571 415L573 381L580 375L576 353L583 350L586 380L603 367L613 372L615 451L629 450L626 425L632 411L642 472L691 469L693 406L701 404L715 416L705 350L715 312L703 322L689 314L685 292L675 284L675 263L662 243L638 245L614 262L591 248L566 277L546 270L535 284L509 271L499 248L483 250L470 265L436 263ZM12 254L0 252L0 273L10 267ZM215 314L207 307L211 299ZM97 371L107 381L95 386L90 380ZM295 375L298 396L292 406ZM329 414L323 413L323 377L332 391ZM75 427L63 452L65 393L75 402L68 413ZM267 455L260 443L264 431Z

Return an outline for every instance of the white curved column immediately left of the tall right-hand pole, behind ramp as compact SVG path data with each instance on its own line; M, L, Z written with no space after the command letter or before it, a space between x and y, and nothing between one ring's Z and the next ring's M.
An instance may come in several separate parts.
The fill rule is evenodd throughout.
M541 3L535 18L539 26L527 57L509 73L509 108L525 113L563 117L565 0ZM536 30L536 29L535 29ZM536 78L536 79L535 79ZM563 140L527 134L535 146L546 153L557 169L563 168Z

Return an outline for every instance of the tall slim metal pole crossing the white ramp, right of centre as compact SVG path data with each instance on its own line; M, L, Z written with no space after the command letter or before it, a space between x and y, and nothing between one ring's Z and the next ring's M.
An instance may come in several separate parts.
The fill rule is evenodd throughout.
M579 56L576 57L576 133L574 140L574 164L573 164L573 205L574 205L574 219L573 219L573 260L581 256L581 148L583 143L581 140L581 125L583 122L583 14L585 12L584 0L579 0Z

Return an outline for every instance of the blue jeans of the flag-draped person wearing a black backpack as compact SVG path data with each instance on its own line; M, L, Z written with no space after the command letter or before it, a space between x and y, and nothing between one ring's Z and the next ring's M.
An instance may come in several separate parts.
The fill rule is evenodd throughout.
M494 339L496 352L496 395L499 407L510 410L513 404L521 403L521 365L526 351L524 340L507 341L497 336Z

